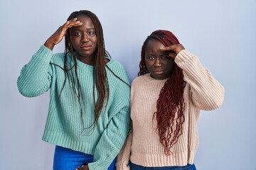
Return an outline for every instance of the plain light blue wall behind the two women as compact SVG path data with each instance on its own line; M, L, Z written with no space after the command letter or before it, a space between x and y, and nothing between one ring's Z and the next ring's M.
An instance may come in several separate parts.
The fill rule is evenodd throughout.
M223 107L201 113L197 168L256 169L255 0L1 0L0 169L52 169L54 147L41 140L48 94L25 98L16 79L38 47L80 9L100 18L107 50L131 80L146 36L171 30L225 86ZM54 52L63 52L63 43Z

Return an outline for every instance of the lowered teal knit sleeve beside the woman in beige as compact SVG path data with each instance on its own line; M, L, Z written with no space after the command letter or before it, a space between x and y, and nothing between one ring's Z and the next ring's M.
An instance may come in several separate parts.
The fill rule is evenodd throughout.
M111 67L112 72L120 79L129 84L127 73L121 64ZM112 75L109 72L108 75ZM129 98L130 88L124 84L117 77L108 76L110 86L114 86L114 100L109 109L110 123L102 133L99 142L95 147L94 162L88 164L90 169L102 170L107 169L110 163L117 157L120 149L124 145L129 131L130 117L129 117ZM115 81L112 81L112 78ZM115 83L116 82L116 83ZM112 92L112 91L110 91Z

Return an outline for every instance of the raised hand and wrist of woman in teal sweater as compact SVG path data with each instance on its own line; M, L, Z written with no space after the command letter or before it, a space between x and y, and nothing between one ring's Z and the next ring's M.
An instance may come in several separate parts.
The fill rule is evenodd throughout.
M60 26L58 30L53 33L53 35L50 36L44 43L46 47L48 47L50 50L53 50L53 47L57 45L61 40L63 40L63 37L65 36L68 28L72 28L74 26L81 26L82 23L78 21L78 18L73 18L70 21L67 21L63 24L63 26Z

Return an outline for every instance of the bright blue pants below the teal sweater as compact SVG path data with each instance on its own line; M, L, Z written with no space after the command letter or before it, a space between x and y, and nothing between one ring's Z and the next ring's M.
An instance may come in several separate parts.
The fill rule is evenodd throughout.
M65 147L55 147L53 158L53 170L75 170L83 164L93 162L92 154L85 154ZM110 164L107 170L115 170L116 159Z

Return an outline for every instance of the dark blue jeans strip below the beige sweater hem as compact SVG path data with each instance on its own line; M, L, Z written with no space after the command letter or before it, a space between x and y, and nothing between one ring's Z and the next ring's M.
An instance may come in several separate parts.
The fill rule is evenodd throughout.
M146 167L129 162L131 170L196 170L194 164L187 164L186 166L162 166L162 167Z

